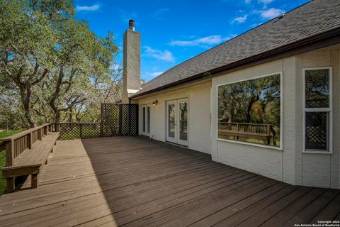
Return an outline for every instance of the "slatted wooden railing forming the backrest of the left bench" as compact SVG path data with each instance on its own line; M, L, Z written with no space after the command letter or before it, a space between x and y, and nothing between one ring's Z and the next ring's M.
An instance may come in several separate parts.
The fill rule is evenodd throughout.
M1 139L0 150L6 150L6 167L13 165L16 157L25 150L32 149L33 144L42 140L42 136L47 135L49 131L50 123L47 123Z

